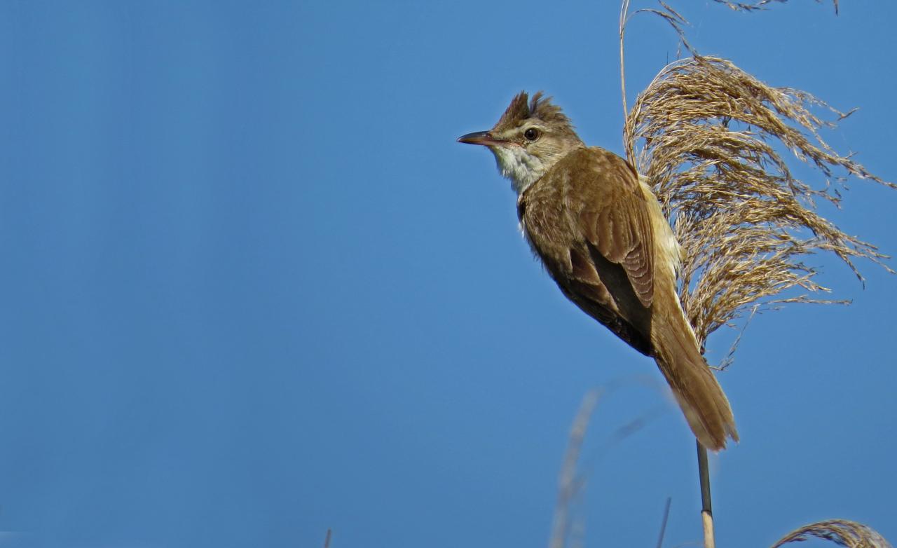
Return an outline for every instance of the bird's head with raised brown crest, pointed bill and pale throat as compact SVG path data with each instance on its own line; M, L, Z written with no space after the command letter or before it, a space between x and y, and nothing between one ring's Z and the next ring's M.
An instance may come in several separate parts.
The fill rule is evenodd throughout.
M569 152L585 146L570 118L542 91L528 100L520 91L489 131L458 137L459 143L482 144L495 154L501 175L518 194L541 178Z

